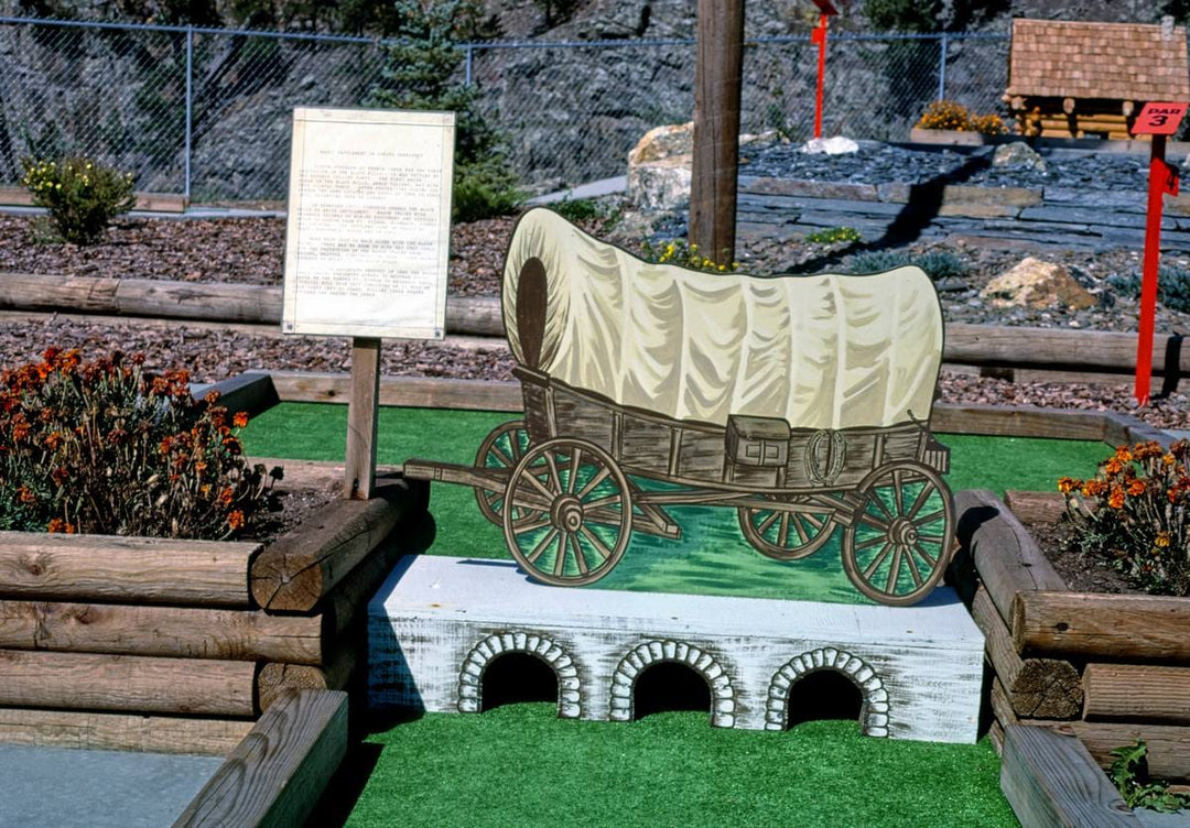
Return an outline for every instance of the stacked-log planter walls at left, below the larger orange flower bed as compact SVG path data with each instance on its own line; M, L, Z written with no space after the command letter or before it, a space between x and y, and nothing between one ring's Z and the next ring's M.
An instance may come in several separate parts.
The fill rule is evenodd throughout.
M426 502L390 479L268 546L0 532L0 740L226 754L288 689L346 688Z

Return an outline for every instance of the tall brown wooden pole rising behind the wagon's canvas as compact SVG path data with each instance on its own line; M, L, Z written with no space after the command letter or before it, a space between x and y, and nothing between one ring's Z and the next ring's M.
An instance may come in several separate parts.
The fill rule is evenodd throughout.
M735 258L743 76L744 0L699 0L690 243L720 264Z

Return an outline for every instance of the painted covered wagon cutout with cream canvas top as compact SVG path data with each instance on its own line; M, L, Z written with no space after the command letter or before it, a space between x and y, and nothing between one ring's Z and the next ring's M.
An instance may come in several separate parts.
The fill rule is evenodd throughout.
M536 581L594 583L632 533L679 540L666 509L691 504L735 510L778 560L840 532L847 578L881 603L916 603L941 579L954 514L928 425L942 319L920 269L700 272L533 209L502 307L525 419L474 466L405 470L474 487Z

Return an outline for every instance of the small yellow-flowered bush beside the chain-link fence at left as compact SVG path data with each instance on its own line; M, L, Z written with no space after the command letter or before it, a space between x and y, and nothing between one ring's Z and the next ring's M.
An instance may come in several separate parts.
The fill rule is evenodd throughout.
M136 206L132 174L73 157L64 161L24 158L21 184L33 203L50 213L50 222L64 242L95 244L117 215Z

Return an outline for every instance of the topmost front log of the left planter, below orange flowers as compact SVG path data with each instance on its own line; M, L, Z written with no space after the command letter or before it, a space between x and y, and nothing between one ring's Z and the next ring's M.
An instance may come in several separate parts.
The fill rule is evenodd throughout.
M0 595L246 609L255 542L0 532Z

